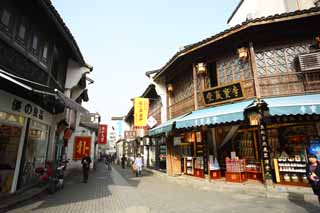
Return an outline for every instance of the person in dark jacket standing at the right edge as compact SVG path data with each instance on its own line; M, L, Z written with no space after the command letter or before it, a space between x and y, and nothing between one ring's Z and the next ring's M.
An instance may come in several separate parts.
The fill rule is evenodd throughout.
M309 165L307 167L307 176L309 178L313 193L318 196L320 203L320 164L317 160L317 157L314 155L309 155L308 159Z

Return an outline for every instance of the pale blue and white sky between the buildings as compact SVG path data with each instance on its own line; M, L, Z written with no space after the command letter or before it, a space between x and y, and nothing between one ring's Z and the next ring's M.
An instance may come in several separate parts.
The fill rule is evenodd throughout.
M84 106L102 122L125 116L130 99L150 81L145 72L162 68L179 48L226 28L239 0L52 0L93 66Z

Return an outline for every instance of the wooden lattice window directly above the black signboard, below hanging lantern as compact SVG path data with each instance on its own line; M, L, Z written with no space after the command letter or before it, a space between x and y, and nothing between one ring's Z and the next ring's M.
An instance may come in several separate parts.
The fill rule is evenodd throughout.
M238 57L217 61L217 73L219 85L252 78L248 61L241 61Z

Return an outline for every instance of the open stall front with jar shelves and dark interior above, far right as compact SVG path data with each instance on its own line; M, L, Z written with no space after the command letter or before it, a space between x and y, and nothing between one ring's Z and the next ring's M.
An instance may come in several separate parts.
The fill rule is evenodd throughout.
M313 124L290 125L277 128L276 154L273 159L276 182L279 184L309 186L306 175L307 154L317 140ZM271 139L272 140L272 139ZM311 151L312 152L312 151Z

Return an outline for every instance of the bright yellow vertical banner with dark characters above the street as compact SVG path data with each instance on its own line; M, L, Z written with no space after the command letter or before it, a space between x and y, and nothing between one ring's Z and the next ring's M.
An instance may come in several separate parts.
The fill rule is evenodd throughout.
M147 119L149 113L149 99L135 98L134 99L134 126L147 126Z

